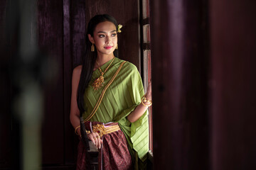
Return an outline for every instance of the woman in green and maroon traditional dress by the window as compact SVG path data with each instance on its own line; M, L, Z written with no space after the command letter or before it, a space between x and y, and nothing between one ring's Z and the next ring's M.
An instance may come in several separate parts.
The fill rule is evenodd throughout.
M82 114L87 137L100 151L101 169L144 169L151 86L144 95L137 67L117 58L118 32L117 21L107 14L88 23L85 57L73 70L70 122L81 135ZM85 154L80 141L77 169L85 169Z

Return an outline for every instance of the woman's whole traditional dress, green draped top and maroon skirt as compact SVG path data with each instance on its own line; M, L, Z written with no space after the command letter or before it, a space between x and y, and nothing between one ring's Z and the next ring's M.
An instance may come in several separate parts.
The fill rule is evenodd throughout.
M111 60L100 67L102 72L109 66ZM119 73L104 92L105 86L110 83L120 64L124 62L118 58L104 74L104 84L95 91L92 87L95 79L100 77L99 69L92 74L89 86L85 90L86 110L84 120L90 118L102 91L104 96L95 114L85 123L87 130L97 123L118 123L121 130L103 135L102 149L100 149L99 165L102 169L144 169L147 152L149 149L149 127L147 111L139 120L130 123L127 115L141 103L144 95L142 79L137 67L130 62L125 62ZM105 124L110 125L110 124ZM78 145L78 169L82 169L85 157L85 148L82 142Z

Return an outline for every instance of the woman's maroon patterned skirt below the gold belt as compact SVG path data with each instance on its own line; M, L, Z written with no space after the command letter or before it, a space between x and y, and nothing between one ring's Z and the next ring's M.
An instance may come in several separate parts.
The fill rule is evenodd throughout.
M85 128L92 131L92 125L98 122L87 122ZM102 123L100 123L102 124ZM107 123L104 125L117 125L118 123ZM125 170L132 168L132 157L128 150L127 140L122 130L117 130L102 136L102 147L99 150L99 169ZM77 170L84 170L86 167L86 149L82 141L78 144Z

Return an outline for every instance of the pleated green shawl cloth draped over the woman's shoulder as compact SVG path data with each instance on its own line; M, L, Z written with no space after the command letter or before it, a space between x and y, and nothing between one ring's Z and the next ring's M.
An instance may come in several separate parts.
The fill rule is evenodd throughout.
M83 114L84 119L90 115L102 93L102 89L104 89L106 84L110 81L122 62L123 60L119 60L118 58L114 59L112 66L104 74L104 86L98 91L93 90L92 82L100 77L100 71L97 69L93 72L92 80L85 90L84 98L86 108L85 113ZM100 67L102 72L105 71L108 64L110 64L110 61ZM105 92L102 103L100 103L100 107L95 115L90 119L92 122L119 123L120 128L127 138L129 151L131 152L133 159L137 160L139 158L141 162L146 160L146 155L149 150L148 113L146 111L144 115L134 123L130 123L129 120L127 120L127 115L134 111L139 105L143 95L144 89L142 79L137 67L130 62L126 62Z

